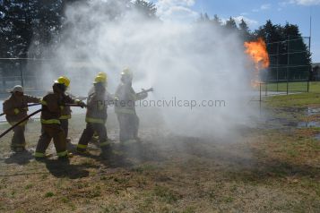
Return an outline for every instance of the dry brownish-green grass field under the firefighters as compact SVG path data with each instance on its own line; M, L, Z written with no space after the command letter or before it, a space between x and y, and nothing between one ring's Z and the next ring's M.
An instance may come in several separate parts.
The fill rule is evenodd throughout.
M90 157L38 162L13 155L9 134L0 147L0 212L319 212L320 127L308 125L320 122L319 85L311 90L265 98L256 126L226 141L177 135L142 115L143 142L115 141L108 159L91 144ZM74 143L83 127L74 116ZM108 134L117 133L110 115ZM39 122L26 136L32 152Z

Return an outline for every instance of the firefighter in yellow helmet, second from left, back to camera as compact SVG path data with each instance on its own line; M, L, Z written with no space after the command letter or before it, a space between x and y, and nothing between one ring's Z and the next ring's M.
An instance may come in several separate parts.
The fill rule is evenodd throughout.
M66 150L65 132L60 123L60 116L67 103L74 103L75 100L65 95L65 90L69 86L70 80L61 76L53 85L53 92L49 92L42 99L41 111L41 135L39 137L35 158L46 158L46 150L53 139L58 158L69 158L72 154ZM84 103L78 102L84 107Z

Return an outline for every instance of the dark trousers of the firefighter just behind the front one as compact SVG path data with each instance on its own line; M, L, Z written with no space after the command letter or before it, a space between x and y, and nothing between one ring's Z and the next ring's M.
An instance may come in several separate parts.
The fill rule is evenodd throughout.
M100 144L108 142L107 129L104 124L87 123L87 126L83 130L82 136L79 140L79 145L86 147L89 141L91 141L94 132L97 132ZM82 149L80 147L83 146L78 146L77 149Z

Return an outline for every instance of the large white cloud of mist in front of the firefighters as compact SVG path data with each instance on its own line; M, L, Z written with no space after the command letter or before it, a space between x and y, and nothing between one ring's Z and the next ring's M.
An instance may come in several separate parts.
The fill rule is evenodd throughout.
M149 99L171 105L153 109L173 132L222 136L246 122L252 112L247 104L249 79L243 43L236 34L210 23L151 21L120 2L93 0L67 7L68 28L55 57L72 79L74 93L85 95L98 72L108 73L108 90L114 92L127 66L134 72L135 90L153 87ZM110 13L123 15L113 20ZM172 107L169 101L174 99L186 107ZM187 106L191 100L197 101L193 109ZM226 106L199 107L209 100L223 100Z

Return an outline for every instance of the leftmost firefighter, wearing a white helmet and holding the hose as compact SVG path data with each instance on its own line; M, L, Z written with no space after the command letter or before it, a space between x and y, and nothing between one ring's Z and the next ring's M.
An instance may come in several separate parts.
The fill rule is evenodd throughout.
M31 97L24 94L23 88L16 85L12 91L10 98L4 100L4 114L9 124L14 125L21 121L22 118L28 116L28 103L39 103L40 98ZM26 141L24 138L25 125L28 121L19 124L13 129L13 139L11 149L15 152L25 150Z

